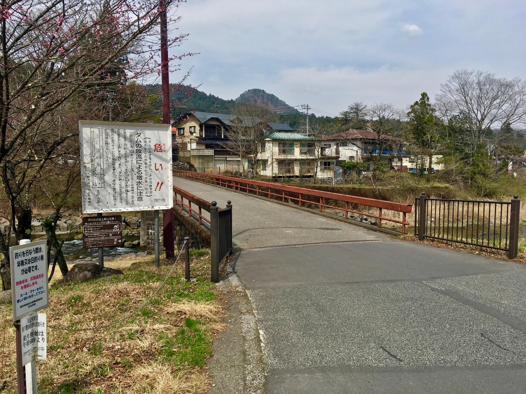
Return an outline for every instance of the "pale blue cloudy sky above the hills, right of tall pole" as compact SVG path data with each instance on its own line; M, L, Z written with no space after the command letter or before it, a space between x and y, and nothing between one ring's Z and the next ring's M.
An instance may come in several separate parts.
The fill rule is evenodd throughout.
M199 53L187 82L224 99L260 88L337 114L433 98L461 68L526 78L524 0L188 0L177 13L190 35L173 54Z

